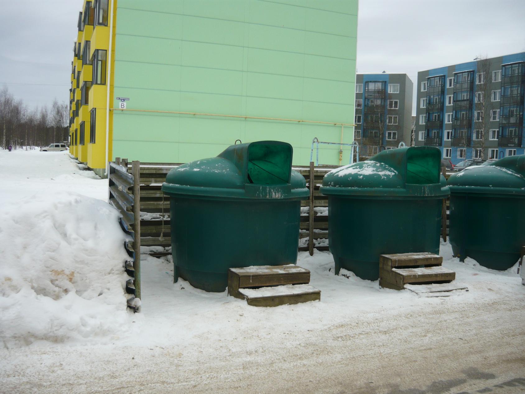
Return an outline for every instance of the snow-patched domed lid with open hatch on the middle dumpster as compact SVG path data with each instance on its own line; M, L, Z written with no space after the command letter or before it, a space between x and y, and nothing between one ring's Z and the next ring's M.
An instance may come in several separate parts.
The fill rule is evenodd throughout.
M335 169L325 175L322 194L341 196L448 195L440 174L441 152L434 147L404 147L384 150L372 158Z

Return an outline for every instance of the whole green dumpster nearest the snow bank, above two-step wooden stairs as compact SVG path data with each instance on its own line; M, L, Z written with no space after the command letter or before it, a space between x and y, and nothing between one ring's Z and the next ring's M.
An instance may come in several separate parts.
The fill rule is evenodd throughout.
M228 268L296 263L309 191L291 163L290 144L259 141L167 174L174 281L223 292Z

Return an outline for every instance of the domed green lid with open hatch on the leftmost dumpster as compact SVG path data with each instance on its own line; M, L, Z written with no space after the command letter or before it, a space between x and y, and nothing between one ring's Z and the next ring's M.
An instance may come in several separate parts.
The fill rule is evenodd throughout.
M292 171L289 143L257 141L232 145L217 157L172 169L162 191L244 199L306 199L306 181Z

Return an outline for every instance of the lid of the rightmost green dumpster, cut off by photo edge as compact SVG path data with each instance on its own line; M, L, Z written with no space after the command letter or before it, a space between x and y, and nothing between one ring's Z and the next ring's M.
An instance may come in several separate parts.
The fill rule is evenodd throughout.
M525 155L508 156L451 175L451 192L525 194Z

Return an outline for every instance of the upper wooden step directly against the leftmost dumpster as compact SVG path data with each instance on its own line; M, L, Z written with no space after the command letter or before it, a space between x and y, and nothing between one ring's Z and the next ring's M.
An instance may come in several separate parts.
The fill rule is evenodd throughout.
M310 283L310 271L297 265L259 265L230 268L228 294L243 298L239 289Z

